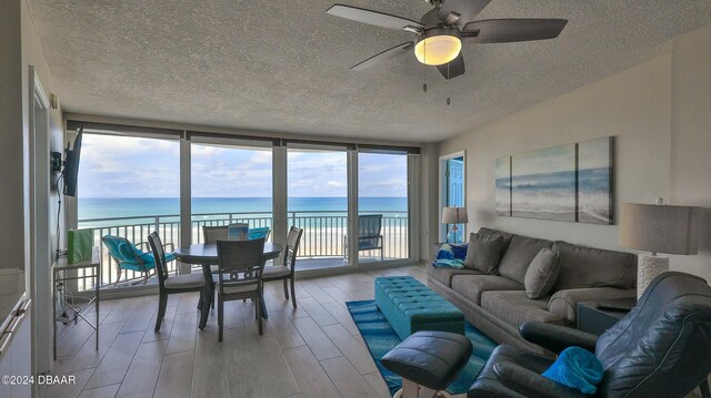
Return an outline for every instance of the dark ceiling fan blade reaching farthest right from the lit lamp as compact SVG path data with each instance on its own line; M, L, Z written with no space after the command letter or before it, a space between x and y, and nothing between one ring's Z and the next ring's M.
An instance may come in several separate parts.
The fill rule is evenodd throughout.
M507 43L558 38L567 19L488 19L469 22L462 40L471 43Z

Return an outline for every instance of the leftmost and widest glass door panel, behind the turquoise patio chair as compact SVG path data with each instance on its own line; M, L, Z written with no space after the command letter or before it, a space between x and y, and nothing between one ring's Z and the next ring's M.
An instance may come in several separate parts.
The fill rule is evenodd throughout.
M124 237L144 252L150 252L146 242L153 231L163 243L180 243L179 147L177 140L84 132L77 226L93 228L93 244L102 257L102 285L132 286L143 275L119 272L101 237ZM91 278L78 283L79 289L92 288Z

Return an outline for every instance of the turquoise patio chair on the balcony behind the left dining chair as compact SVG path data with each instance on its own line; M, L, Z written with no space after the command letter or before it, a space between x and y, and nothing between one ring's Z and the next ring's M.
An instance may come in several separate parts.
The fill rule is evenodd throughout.
M121 236L106 235L101 237L101 242L107 246L109 255L113 258L117 265L117 278L114 285L118 285L121 280L123 269L143 273L143 284L146 284L148 278L153 275L152 271L156 269L156 258L153 258L153 254L151 252L142 252L137 247L137 245ZM144 245L144 243L140 245ZM172 243L169 243L166 246L172 246ZM166 263L174 259L176 256L172 253L166 254Z

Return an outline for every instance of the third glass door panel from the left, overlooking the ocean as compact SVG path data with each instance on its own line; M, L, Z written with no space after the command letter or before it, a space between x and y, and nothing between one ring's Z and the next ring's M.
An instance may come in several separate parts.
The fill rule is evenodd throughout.
M297 269L348 265L348 153L288 150L287 225L303 228Z

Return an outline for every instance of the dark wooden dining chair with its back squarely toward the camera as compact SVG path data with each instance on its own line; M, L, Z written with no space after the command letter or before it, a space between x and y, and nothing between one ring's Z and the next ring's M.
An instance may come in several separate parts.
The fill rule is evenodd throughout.
M218 339L222 341L224 302L251 298L254 302L259 334L262 334L262 272L264 238L251 241L218 239Z

